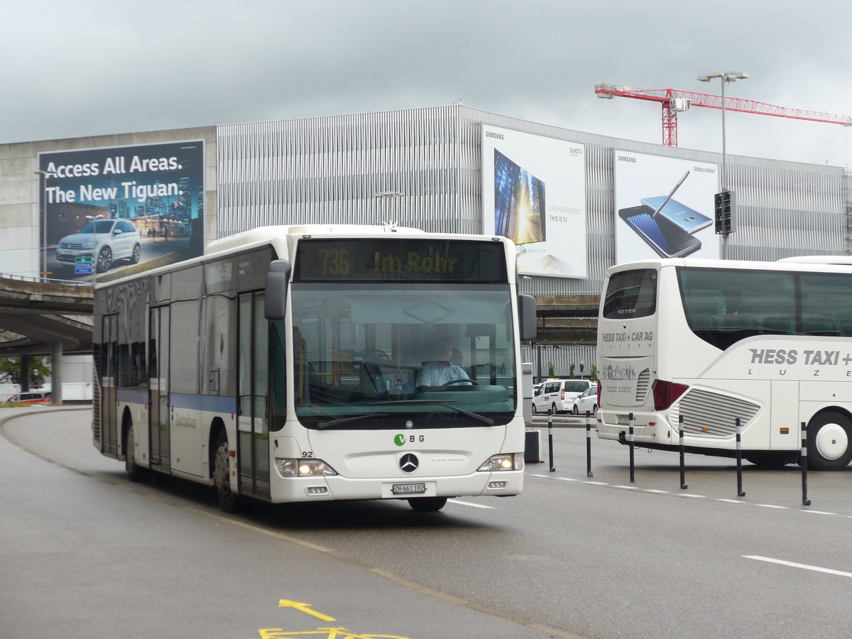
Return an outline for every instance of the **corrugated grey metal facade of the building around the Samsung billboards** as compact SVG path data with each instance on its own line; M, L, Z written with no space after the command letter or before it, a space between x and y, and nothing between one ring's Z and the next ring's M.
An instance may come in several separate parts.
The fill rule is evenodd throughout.
M395 221L481 232L481 124L586 146L586 279L534 276L533 295L599 293L615 261L613 149L721 164L721 153L538 124L455 105L217 127L219 237L263 224ZM845 254L843 169L727 155L738 230L728 257ZM403 193L377 198L377 193Z

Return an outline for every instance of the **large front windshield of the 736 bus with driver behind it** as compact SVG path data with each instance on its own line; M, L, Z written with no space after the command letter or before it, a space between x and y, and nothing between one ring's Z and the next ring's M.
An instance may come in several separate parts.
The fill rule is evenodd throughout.
M308 428L508 423L506 285L294 284L296 417Z

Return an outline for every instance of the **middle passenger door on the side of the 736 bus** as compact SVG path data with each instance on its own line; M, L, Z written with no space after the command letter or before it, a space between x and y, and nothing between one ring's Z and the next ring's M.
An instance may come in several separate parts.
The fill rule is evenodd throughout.
M169 307L151 309L148 329L150 461L153 468L169 470Z

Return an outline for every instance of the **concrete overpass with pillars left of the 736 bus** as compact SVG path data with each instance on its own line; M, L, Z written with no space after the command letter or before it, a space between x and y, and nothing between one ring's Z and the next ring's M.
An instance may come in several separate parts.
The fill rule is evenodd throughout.
M92 352L92 293L91 285L0 274L0 329L24 336L0 343L0 357L49 355L57 405L62 403L62 354ZM28 367L21 371L21 389L27 389Z

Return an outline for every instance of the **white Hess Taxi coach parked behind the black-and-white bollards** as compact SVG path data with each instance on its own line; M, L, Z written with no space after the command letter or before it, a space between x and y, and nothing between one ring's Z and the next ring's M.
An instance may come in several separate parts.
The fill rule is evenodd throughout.
M852 266L669 259L608 269L598 316L598 436L815 469L852 458ZM805 263L810 262L810 263Z

